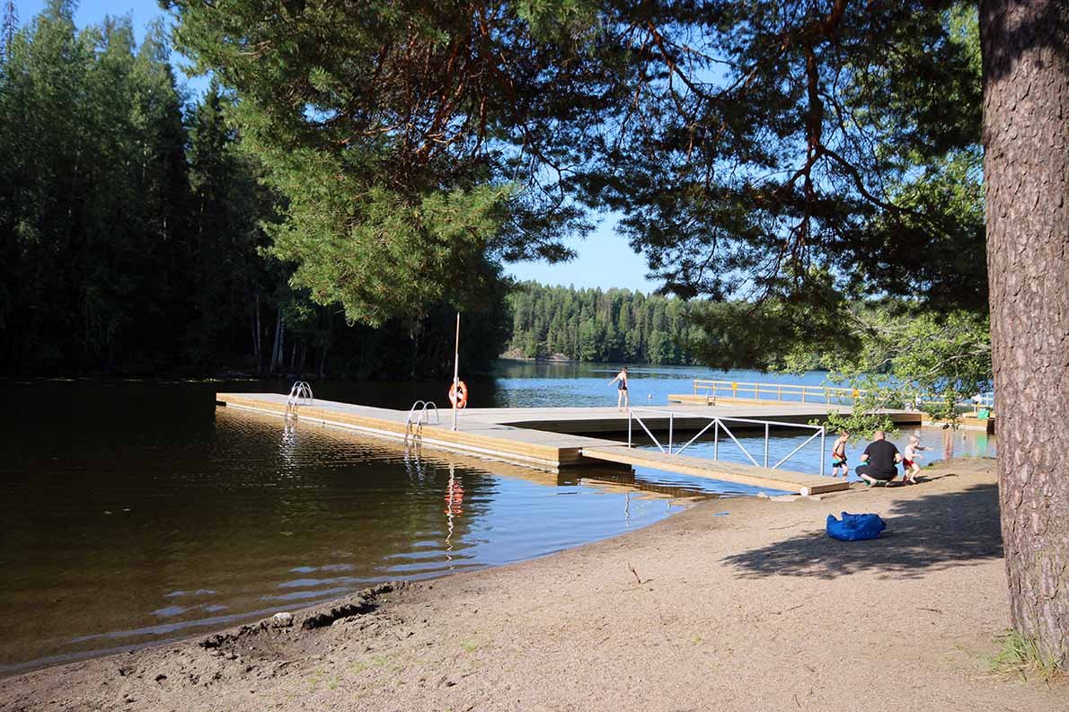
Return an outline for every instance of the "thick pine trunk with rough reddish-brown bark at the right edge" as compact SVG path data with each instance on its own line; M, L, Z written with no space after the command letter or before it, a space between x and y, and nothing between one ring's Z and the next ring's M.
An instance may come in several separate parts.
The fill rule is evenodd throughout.
M1069 666L1069 3L982 0L988 275L1013 628Z

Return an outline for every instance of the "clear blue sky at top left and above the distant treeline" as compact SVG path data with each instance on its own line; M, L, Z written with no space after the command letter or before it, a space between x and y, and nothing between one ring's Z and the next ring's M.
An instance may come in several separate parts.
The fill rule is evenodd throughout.
M44 0L15 0L21 22L28 24L40 13ZM140 38L144 26L166 13L156 0L84 0L78 4L75 22L78 27L99 22L106 15L126 15L134 18L134 27ZM192 91L203 91L203 80L187 80ZM578 257L564 264L549 265L543 262L525 262L506 266L509 275L516 279L533 279L547 284L574 284L575 287L623 287L641 292L650 292L656 283L646 279L646 261L635 254L628 242L617 235L613 227L615 220L604 219L586 239L569 243Z

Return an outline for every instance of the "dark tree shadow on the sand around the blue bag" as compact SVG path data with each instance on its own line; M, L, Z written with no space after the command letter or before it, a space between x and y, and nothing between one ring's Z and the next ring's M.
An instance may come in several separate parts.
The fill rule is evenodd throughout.
M836 516L839 512L834 512ZM896 502L879 539L838 541L824 531L733 554L725 562L743 577L835 578L877 572L886 578L916 578L1003 555L998 487L977 484L962 492Z

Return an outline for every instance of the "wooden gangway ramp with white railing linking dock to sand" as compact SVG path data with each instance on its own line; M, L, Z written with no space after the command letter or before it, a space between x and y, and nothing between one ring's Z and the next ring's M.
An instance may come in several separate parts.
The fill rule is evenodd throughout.
M846 480L803 475L801 473L772 469L770 467L755 467L753 465L691 458L687 455L669 455L664 452L636 450L625 445L583 448L583 456L637 465L639 467L653 467L654 469L695 475L697 477L708 477L727 482L738 482L739 484L749 484L756 487L797 492L803 495L839 492L850 489L850 484Z

